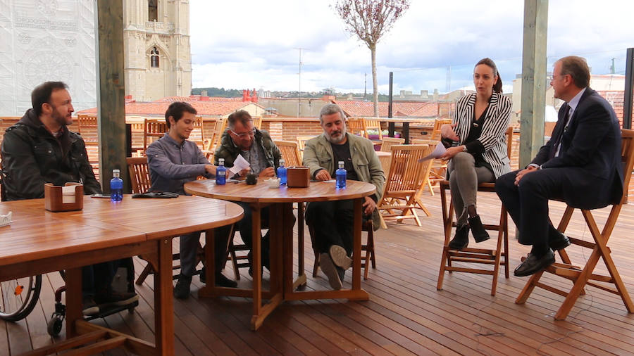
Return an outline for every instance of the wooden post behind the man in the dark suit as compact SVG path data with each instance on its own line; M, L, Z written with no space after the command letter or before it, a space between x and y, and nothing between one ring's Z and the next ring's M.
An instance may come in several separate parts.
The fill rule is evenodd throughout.
M524 0L519 167L544 144L548 0Z

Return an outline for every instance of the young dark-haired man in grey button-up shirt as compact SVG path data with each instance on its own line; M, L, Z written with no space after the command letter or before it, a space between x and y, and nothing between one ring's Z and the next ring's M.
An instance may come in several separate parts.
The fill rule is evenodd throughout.
M197 144L187 141L194 129L197 111L189 103L171 103L165 113L165 120L169 132L165 136L152 142L147 148L147 163L149 166L151 191L170 191L185 195L183 185L192 182L202 175L207 178L215 177L216 166L209 163ZM216 285L235 287L237 283L225 277L220 270L227 255L228 228L218 229L216 234ZM200 231L180 236L180 275L174 287L175 298L189 297L189 286L196 269L196 255L198 252ZM201 282L205 282L201 273Z

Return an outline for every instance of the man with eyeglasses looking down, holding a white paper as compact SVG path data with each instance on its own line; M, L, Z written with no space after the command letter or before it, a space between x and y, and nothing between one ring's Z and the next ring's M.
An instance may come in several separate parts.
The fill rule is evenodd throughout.
M238 155L242 155L242 158L249 162L249 168L229 178L244 179L249 172L258 174L260 178L275 177L275 170L280 165L282 153L278 146L275 146L275 142L273 142L268 132L256 129L253 126L253 118L246 110L238 110L232 113L227 120L228 129L220 139L220 146L213 155L214 164L218 165L218 159L224 158L225 167L230 168L233 167ZM240 222L237 222L236 226L240 231L242 241L250 248L252 246L251 241L253 241L253 236L251 236L251 231L253 231L251 229L251 208L248 203L235 203L244 209L244 217L242 217ZM262 209L261 218L263 222L268 222L268 208ZM261 246L262 265L268 269L270 265L268 231L262 239ZM248 257L250 264L251 251L249 251ZM249 274L252 274L252 267L249 267Z

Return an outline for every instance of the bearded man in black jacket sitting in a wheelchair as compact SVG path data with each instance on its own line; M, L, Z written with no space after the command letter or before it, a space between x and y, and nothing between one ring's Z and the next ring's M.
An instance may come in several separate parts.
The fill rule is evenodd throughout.
M88 163L82 137L68 130L74 108L63 82L45 82L33 89L33 108L6 129L1 144L2 190L7 201L44 198L44 183L64 185L80 182L84 193L101 193L101 186ZM84 314L99 307L128 305L135 293L114 293L110 284L118 261L82 269Z

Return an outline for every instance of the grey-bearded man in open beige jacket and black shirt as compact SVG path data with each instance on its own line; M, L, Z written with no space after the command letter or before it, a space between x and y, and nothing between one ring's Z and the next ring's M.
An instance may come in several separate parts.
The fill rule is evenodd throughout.
M311 177L321 181L332 179L337 162L343 161L346 179L372 183L376 192L366 196L363 218L372 219L380 227L376 203L383 193L385 174L372 142L346 132L345 114L340 106L327 104L321 109L319 122L323 134L306 141L304 165ZM334 183L333 183L334 184ZM313 225L321 270L333 289L340 289L346 269L352 264L352 201L320 201L306 207L306 222Z

